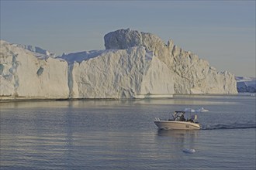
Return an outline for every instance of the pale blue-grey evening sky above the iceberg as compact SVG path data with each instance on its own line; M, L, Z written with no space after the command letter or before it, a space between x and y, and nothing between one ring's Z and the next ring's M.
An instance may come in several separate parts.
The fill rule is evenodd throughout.
M61 55L136 29L173 39L217 70L255 76L255 1L3 1L1 39Z

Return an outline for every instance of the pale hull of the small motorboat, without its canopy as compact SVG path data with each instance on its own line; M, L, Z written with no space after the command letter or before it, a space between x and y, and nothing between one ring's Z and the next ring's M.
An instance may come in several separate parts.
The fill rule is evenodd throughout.
M199 124L195 124L189 121L154 121L154 124L156 124L159 129L165 130L195 130L201 128Z

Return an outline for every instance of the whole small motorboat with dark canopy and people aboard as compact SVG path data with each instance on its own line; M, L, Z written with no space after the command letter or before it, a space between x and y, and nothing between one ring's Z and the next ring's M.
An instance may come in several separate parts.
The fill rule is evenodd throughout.
M156 117L154 124L156 124L159 129L164 130L195 130L201 128L199 122L196 122L197 115L192 115L190 119L185 119L184 114L185 111L175 111L172 115L172 119L168 120L161 120Z

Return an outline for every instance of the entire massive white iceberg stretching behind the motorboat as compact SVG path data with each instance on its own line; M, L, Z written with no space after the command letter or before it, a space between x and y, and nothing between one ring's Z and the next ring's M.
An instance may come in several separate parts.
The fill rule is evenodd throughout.
M55 56L1 41L0 99L172 97L237 93L234 75L150 33L120 29L106 49Z

